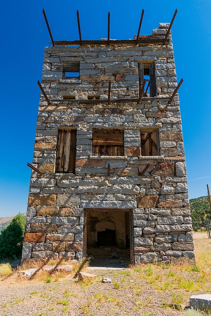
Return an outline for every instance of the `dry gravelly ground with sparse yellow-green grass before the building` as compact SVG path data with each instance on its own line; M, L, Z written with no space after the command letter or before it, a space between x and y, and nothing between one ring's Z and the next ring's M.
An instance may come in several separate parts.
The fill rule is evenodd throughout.
M146 264L123 270L86 270L97 275L93 283L46 275L14 282L10 276L0 281L0 315L184 315L169 303L188 306L191 295L211 290L211 240L195 240L195 252L196 268ZM112 283L102 283L103 277Z

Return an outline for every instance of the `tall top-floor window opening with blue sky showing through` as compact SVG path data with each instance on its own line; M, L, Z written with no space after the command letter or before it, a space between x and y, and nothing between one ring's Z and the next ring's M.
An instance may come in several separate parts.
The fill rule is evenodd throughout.
M138 64L139 70L139 93L141 91L144 79L146 79L145 88L142 97L149 94L151 97L157 96L155 83L155 65L154 64Z

